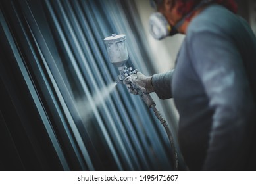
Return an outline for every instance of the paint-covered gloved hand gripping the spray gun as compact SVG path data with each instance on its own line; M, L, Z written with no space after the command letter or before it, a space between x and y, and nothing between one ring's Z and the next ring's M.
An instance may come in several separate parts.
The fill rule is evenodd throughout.
M124 79L123 83L128 88L129 93L132 93L134 95L138 94L138 91L134 89L134 87L131 85L135 85L138 89L143 91L144 93L151 93L154 92L153 86L152 86L152 76L145 76L141 72L137 72L136 74L132 74Z

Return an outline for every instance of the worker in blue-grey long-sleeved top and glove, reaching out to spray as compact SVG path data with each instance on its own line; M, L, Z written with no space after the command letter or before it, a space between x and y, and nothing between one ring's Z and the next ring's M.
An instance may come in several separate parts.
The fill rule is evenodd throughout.
M186 38L176 67L134 83L160 99L173 97L178 140L190 170L256 170L256 39L232 0L156 1L168 25Z

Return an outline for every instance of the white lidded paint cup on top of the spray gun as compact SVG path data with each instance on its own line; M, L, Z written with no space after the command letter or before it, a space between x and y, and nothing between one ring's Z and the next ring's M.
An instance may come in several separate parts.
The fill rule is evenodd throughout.
M129 58L125 40L126 36L124 34L112 34L112 36L104 39L109 59L119 71L124 68L124 65Z

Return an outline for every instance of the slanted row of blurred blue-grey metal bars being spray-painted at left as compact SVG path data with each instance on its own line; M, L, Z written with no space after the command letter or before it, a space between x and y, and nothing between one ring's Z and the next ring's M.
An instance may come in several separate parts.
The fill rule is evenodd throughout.
M49 139L47 144L53 149L45 152L56 154L53 160L63 170L172 170L168 137L140 97L118 86L99 106L93 99L116 78L103 43L114 32L126 34L128 65L152 73L151 64L145 64L150 60L149 50L133 1L6 0L0 5L0 45L6 52L1 63L11 72L12 68L21 72L1 72L1 80L15 86L11 78L18 78L21 89L30 91L24 95L36 106L27 103L24 107L37 110L36 125L46 130L31 131L38 132L38 139ZM83 109L88 107L91 114L84 118ZM12 113L22 116L18 108ZM11 114L2 115L2 122L12 131L8 126ZM29 129L33 121L24 121L22 126ZM16 140L18 135L11 138ZM33 142L32 137L28 140ZM39 155L43 143L32 144L30 152ZM45 152L37 156L42 164L35 170L51 170ZM49 166L43 166L42 159Z

